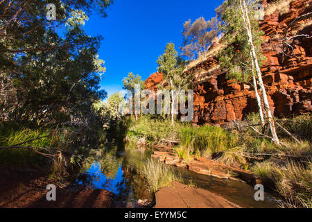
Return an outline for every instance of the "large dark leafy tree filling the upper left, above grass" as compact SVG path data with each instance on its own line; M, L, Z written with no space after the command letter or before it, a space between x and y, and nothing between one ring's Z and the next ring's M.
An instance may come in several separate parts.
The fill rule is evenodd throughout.
M55 20L47 17L48 3L55 6ZM99 90L105 67L97 55L102 37L87 35L83 25L92 8L105 17L110 3L0 1L0 77L16 98L4 111L9 120L90 121L92 103L106 95Z

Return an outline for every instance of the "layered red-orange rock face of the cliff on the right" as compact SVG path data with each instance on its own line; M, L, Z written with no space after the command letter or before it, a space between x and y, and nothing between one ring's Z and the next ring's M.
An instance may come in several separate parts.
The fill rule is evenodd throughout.
M266 4L266 1L263 3ZM296 56L283 57L281 53L285 28L296 17L311 10L312 0L296 0L291 2L288 12L283 15L274 12L260 22L260 28L265 33L262 49L266 57L261 71L275 117L312 112L312 38L295 38L293 47ZM312 26L307 22L297 23L288 31L288 36L311 35ZM218 45L211 46L212 49L215 47ZM291 54L291 51L288 53ZM221 125L232 119L241 120L250 112L257 112L253 86L227 79L215 56L199 62L187 72L194 77L193 123ZM146 80L153 83L154 88L161 81L160 74L153 74Z

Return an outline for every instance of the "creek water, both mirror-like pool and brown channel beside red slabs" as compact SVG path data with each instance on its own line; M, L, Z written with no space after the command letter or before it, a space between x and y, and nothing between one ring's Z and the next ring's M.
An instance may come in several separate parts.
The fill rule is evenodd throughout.
M74 183L84 185L89 189L107 189L114 193L116 201L134 202L136 200L153 200L153 194L148 189L144 177L136 169L144 162L153 148L125 148L125 151L110 151L105 155L96 153L90 158ZM207 189L242 207L277 207L278 196L265 193L264 201L254 200L255 190L245 182L205 176L187 169L173 167L182 174L183 182L195 183L196 187Z

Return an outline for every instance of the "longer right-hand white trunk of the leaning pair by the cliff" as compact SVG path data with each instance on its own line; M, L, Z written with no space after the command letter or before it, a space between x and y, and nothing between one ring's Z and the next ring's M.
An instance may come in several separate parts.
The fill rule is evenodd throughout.
M270 110L270 105L268 103L268 97L266 96L266 88L264 87L262 77L261 77L261 70L259 67L259 62L257 58L257 53L254 49L254 44L252 41L252 31L251 31L251 26L250 26L250 19L248 16L248 9L245 4L245 0L239 0L241 4L241 11L243 12L243 19L245 22L245 29L248 33L248 42L250 44L250 51L252 53L252 60L254 61L254 67L256 68L257 76L258 76L258 81L259 81L259 86L262 94L262 99L263 99L263 104L264 104L264 110L266 111L266 117L268 118L268 124L270 126L270 130L272 133L272 138L275 141L277 145L280 145L279 143L279 138L277 137L277 133L275 130L275 124L274 120L272 118L271 110Z

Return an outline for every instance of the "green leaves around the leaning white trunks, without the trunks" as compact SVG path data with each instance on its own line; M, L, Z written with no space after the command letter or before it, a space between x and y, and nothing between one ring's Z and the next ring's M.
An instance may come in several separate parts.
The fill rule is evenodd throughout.
M259 31L259 24L254 19L254 2L249 2L248 8L252 40L261 67L261 62L264 60L261 54L263 32ZM219 30L223 34L223 43L227 45L218 55L219 64L227 71L228 78L248 83L252 76L252 57L239 0L224 1L223 5L216 9L216 13L221 21Z

